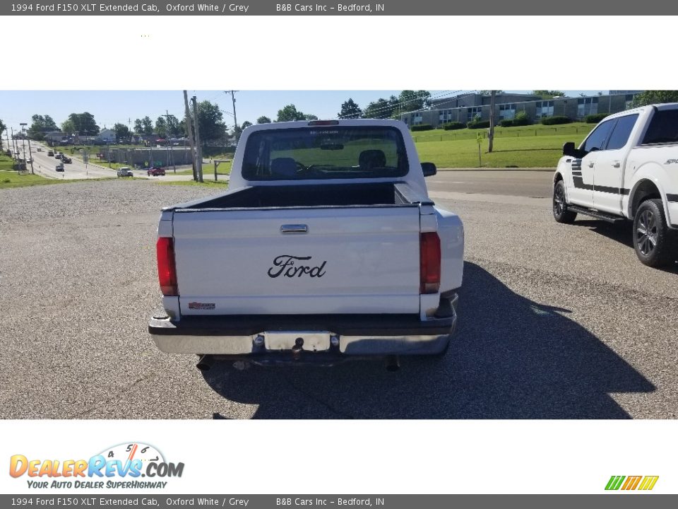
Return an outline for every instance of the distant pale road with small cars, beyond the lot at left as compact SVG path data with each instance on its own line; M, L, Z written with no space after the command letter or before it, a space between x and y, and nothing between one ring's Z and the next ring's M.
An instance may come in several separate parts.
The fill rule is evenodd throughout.
M40 151L38 151L40 148ZM48 151L51 150L48 146L40 144L36 141L31 141L31 151L33 157L33 171L38 175L48 178L56 178L63 180L81 180L81 179L90 179L90 178L117 178L117 170L112 168L106 168L103 165L98 163L88 163L85 165L82 160L76 158L75 154L71 154L70 151L66 152L66 156L69 156L72 163L64 164L64 171L57 172L57 164L61 161L54 156L47 156ZM26 145L26 151L28 151L28 144ZM95 155L90 154L90 160L95 161ZM187 167L187 168L190 168ZM185 170L186 168L179 168L180 170ZM209 167L207 167L209 169ZM30 164L28 165L28 170L30 170ZM208 172L206 172L208 173ZM133 170L133 178L141 178L148 180L192 180L191 175L174 175L172 170L167 171L165 176L149 177L143 170ZM127 177L129 178L129 177Z

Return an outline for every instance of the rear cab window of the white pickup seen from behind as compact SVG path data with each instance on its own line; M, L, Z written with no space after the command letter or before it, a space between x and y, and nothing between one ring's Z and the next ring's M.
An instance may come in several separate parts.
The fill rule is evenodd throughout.
M309 126L249 135L246 180L327 180L403 177L409 163L395 127Z

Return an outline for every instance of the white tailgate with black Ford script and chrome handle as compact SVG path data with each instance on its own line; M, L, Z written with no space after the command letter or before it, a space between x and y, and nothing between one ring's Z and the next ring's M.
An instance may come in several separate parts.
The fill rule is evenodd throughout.
M182 315L417 313L417 205L175 210Z

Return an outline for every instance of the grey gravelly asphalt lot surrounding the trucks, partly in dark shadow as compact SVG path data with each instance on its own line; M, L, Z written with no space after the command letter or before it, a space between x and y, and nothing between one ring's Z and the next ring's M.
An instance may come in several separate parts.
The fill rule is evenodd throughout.
M160 207L210 189L141 180L0 190L3 419L673 419L678 264L629 224L553 221L549 172L439 172L465 223L444 358L251 368L155 348Z

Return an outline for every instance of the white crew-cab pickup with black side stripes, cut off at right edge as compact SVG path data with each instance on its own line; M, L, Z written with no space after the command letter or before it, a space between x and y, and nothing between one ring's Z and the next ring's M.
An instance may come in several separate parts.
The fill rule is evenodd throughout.
M579 148L563 147L553 180L553 216L634 222L638 259L650 267L678 258L678 103L602 119Z

